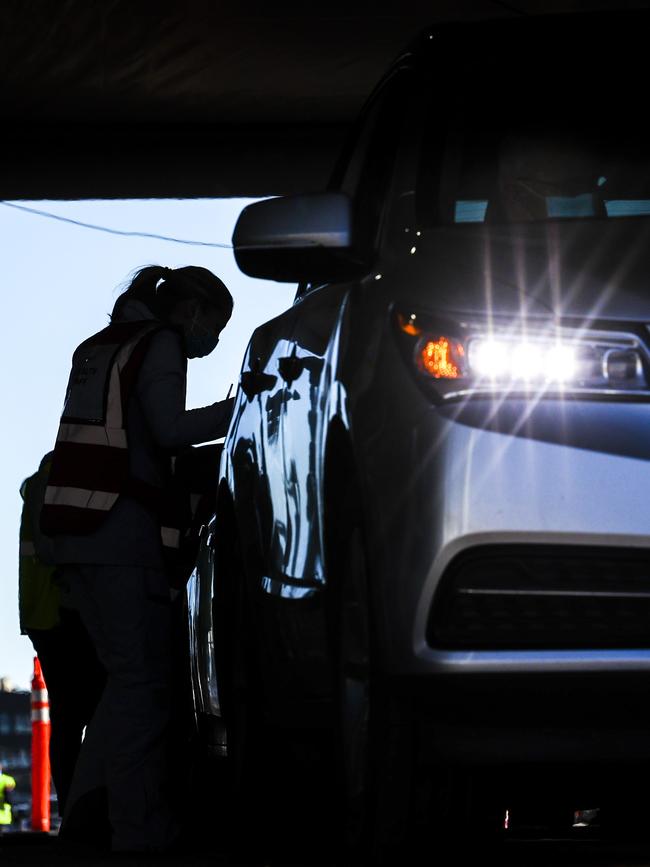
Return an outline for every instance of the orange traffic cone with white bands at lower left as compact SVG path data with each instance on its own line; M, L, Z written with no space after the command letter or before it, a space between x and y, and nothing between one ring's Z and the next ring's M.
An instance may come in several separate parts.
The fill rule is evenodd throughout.
M32 678L32 830L50 830L50 703L38 656Z

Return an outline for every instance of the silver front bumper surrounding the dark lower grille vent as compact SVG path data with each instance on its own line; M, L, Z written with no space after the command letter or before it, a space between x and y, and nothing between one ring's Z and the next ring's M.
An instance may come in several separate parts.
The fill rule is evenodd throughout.
M606 548L636 552L650 563L648 430L650 404L643 403L475 401L471 412L428 408L410 433L409 472L384 485L390 497L380 504L382 538L391 544L383 545L374 568L390 612L392 673L650 675L650 623L647 646L637 629L633 646L622 641L609 648L575 640L564 647L556 639L548 647L510 649L495 635L492 647L488 637L479 647L450 649L448 642L436 645L430 628L450 564L481 546L542 552L564 546L574 557L581 549L586 556ZM645 589L650 594L650 568Z

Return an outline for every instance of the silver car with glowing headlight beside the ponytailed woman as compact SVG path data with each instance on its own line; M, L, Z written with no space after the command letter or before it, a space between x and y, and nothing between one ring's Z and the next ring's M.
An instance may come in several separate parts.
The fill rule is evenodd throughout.
M647 781L647 26L425 32L327 191L240 216L298 288L243 362L195 698L284 830L382 860L535 799L616 828Z

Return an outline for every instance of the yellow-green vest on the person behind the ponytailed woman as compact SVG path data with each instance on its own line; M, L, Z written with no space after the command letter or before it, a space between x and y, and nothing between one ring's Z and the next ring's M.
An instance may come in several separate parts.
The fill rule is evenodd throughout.
M18 613L20 631L52 629L59 622L61 591L54 581L56 566L44 550L45 540L35 526L40 509L35 500L42 497L47 484L50 460L44 459L38 472L20 486L23 508L20 518L20 550L18 558Z

